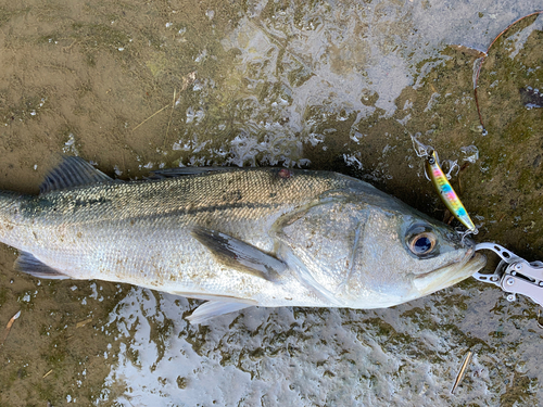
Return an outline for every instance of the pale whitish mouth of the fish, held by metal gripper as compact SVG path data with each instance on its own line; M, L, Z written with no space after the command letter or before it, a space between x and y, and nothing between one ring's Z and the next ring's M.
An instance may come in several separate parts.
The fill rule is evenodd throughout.
M452 262L441 268L416 276L413 280L419 295L428 295L446 289L472 276L487 264L487 257L476 253L475 245L469 247L459 262Z

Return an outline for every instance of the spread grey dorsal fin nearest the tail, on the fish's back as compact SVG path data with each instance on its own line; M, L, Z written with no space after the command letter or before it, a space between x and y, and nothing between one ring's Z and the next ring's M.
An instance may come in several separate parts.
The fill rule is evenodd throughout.
M62 156L61 163L47 175L39 192L48 193L98 182L113 182L113 179L80 157Z

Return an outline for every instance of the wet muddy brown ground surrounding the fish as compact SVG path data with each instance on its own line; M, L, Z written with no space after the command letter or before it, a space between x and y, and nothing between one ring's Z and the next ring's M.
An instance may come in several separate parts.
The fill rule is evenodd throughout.
M160 167L286 165L367 180L450 220L409 133L480 226L543 259L540 1L0 3L0 189L37 193L51 155L129 179ZM466 148L475 145L478 157ZM466 158L471 156L473 162ZM475 160L476 158L476 160ZM526 297L459 285L383 310L249 308L47 282L0 249L0 406L540 405ZM473 359L454 395L465 354Z

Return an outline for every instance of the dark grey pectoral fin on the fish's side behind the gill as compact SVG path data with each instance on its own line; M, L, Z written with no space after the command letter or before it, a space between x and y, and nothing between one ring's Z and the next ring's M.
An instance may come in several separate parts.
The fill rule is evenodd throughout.
M287 265L260 249L226 233L205 228L194 228L192 236L228 267L276 281Z

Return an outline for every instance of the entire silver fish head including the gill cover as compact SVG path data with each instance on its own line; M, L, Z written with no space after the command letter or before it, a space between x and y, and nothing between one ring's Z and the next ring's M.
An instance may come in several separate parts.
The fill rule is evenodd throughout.
M472 240L353 180L282 219L283 259L328 304L382 308L453 285L485 264Z

